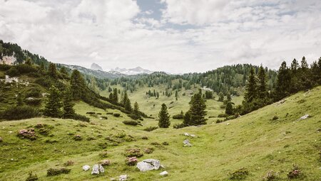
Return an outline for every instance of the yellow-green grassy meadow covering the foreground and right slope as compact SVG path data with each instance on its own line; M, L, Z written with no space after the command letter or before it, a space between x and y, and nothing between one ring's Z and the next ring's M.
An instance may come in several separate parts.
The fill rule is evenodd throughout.
M139 102L144 101L139 95L136 96ZM214 104L208 107L217 111L215 106L220 103L210 101L207 104ZM320 104L321 87L317 87L310 92L300 92L288 97L283 104L275 103L222 124L212 124L213 121L210 120L206 126L178 130L157 129L153 132L142 131L142 128L156 126L157 121L146 119L143 127L125 126L121 124L121 121L128 119L125 115L117 119L108 115L108 120L92 118L96 125L83 123L87 127L79 126L78 121L61 119L0 122L0 136L4 138L4 143L0 143L0 180L25 180L31 170L36 172L39 180L108 180L123 174L128 174L130 180L228 180L228 172L241 167L250 170L246 180L262 180L269 170L280 172L280 180L287 180L286 172L292 168L293 163L300 165L305 175L301 180L320 180L321 163L318 152L321 149L321 140L320 133L317 132L317 129L321 128ZM140 105L142 111L157 114L158 109L151 111L145 104ZM81 114L86 111L105 113L102 109L94 109L83 103L77 104L76 109ZM176 109L171 114L179 112L182 107ZM297 121L304 114L310 114L312 118ZM275 115L279 119L271 121ZM19 129L39 123L54 126L51 130L54 136L39 136L37 141L21 140L15 136ZM198 136L189 138L193 144L191 148L183 148L185 132ZM73 141L73 135L68 133L80 134L84 139ZM126 133L127 136L116 138L119 133ZM128 142L128 135L137 141ZM106 141L106 136L123 143L115 146L115 143ZM141 136L148 136L148 140L142 140ZM87 141L88 137L95 137L96 140ZM56 140L58 143L45 143L46 140ZM123 153L126 148L155 147L150 144L155 141L167 141L169 146L156 147L154 153L145 154L139 160L161 160L161 164L165 165L163 170L170 173L168 177L158 175L163 170L139 172L135 167L124 164L126 157ZM107 145L106 149L101 148L104 143ZM110 152L108 159L112 162L111 166L106 167L106 173L92 176L90 172L83 172L83 165L92 166L102 159L98 156L102 150ZM75 162L75 165L70 167L72 170L69 175L46 177L46 170L67 160Z

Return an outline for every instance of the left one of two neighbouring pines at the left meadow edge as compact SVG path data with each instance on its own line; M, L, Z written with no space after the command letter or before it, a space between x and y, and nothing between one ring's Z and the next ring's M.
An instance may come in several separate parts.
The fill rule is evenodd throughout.
M49 89L49 95L47 97L46 106L44 109L45 116L51 116L54 118L58 118L61 116L61 92L54 87L51 86Z

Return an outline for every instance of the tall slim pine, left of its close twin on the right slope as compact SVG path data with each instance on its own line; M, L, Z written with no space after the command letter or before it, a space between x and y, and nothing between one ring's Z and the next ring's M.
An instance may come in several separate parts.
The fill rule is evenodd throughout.
M255 77L254 69L251 68L250 76L248 77L248 84L246 85L245 102L253 102L253 100L258 96L257 90L257 79Z

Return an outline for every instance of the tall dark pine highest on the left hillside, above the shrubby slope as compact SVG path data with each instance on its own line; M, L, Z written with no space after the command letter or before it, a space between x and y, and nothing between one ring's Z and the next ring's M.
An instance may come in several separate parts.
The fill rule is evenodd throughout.
M85 79L78 70L73 70L71 73L71 95L73 99L79 100L84 97L84 89L86 89Z

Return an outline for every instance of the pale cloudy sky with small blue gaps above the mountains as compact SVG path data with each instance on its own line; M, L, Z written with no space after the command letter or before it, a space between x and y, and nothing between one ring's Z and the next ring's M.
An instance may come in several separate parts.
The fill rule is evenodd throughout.
M0 0L0 39L104 70L277 68L321 56L320 0Z

